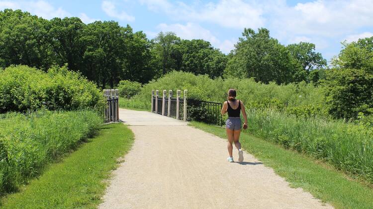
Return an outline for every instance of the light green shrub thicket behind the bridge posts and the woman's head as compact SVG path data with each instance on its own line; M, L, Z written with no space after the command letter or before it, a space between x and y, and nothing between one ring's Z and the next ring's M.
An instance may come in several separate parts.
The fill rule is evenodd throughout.
M291 107L292 109L289 111L294 114L312 116L326 114L325 111L318 111L323 104L322 89L312 84L305 82L287 85L277 85L274 82L263 84L255 82L252 78L211 79L207 75L196 76L192 73L178 71L170 72L144 85L134 99L138 101L136 103L142 103L142 108L147 106L150 109L149 98L151 98L152 90L173 90L176 92L178 89L187 89L188 98L221 103L227 100L227 91L230 88L237 89L237 98L250 107L262 109ZM299 111L295 108L309 112Z

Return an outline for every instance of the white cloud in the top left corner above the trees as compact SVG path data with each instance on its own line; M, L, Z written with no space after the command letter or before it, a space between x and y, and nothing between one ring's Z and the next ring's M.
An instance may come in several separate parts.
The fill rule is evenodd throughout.
M53 5L44 0L37 1L0 1L0 10L5 8L11 9L21 9L23 11L28 11L31 14L35 14L39 17L45 19L52 19L54 17L66 17L71 16L71 14L61 7L54 8Z

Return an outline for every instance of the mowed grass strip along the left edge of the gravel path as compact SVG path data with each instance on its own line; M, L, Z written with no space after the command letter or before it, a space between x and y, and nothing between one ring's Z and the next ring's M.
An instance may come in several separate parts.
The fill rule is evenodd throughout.
M53 163L39 179L1 200L4 209L96 208L117 158L129 151L133 133L122 123L102 125L99 135Z

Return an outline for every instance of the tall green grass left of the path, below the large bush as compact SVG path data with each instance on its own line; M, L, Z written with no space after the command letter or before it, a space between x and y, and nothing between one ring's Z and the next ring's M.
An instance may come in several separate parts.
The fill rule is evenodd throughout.
M97 131L92 110L3 114L0 119L0 194L37 176L48 162Z

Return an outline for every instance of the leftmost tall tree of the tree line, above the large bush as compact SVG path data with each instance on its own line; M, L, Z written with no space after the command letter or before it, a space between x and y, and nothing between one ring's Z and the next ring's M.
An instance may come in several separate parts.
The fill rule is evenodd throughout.
M0 67L25 64L46 70L52 62L47 22L21 10L0 11Z

